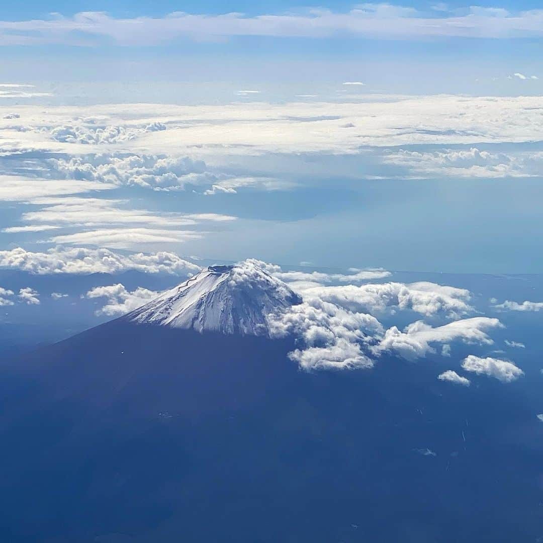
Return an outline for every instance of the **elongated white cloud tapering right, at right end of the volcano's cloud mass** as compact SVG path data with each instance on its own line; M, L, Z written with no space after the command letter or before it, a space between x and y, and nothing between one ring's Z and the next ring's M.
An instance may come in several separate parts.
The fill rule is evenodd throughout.
M434 343L448 344L454 340L462 340L464 343L491 345L494 342L486 331L497 327L502 327L500 321L488 317L456 320L436 328L419 320L407 326L403 332L392 326L371 350L377 356L389 352L413 361L435 352L432 347Z

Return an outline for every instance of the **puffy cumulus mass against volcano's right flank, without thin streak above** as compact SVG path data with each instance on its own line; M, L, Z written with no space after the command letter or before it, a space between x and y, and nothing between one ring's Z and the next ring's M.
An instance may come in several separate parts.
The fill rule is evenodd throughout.
M371 313L382 311L391 304L395 304L399 310L409 308L424 314L450 311L449 302L456 311L469 307L458 306L458 300L451 296L469 296L469 293L462 289L457 289L457 293L453 287L434 285L439 294L439 302L436 302L434 298L426 297L428 292L432 293L431 283L414 284L420 291L415 292L415 295L406 294L406 299L402 298L401 302L397 298L400 289L396 289L395 293L387 290L390 283L301 290L303 303L293 306L281 315L271 315L270 328L275 336L292 333L301 338L304 347L296 349L289 356L307 369L369 368L373 364L372 357L381 356L384 352L414 360L429 352L435 352L432 344L448 345L454 340L465 343L493 343L486 332L500 327L501 324L497 319L486 317L457 320L435 328L417 321L404 332L400 332L395 326L385 332ZM416 295L420 293L422 298ZM450 299L445 299L444 293L449 295Z

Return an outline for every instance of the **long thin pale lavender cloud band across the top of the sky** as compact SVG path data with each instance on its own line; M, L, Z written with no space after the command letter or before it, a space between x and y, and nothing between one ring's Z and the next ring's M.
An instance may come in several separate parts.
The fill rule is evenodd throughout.
M114 18L86 11L47 20L0 21L0 45L157 46L179 37L217 40L230 36L420 40L436 37L506 39L543 33L542 10L510 12L472 7L464 14L433 10L432 15L386 3L357 5L350 11L314 9L301 13L188 14Z

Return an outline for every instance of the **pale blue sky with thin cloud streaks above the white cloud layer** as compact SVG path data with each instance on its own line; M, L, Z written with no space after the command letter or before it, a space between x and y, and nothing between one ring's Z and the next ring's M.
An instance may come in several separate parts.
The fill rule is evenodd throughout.
M539 77L541 12L526 13L537 3L477 5L375 3L356 11L355 4L330 3L317 11L312 3L284 2L13 4L0 17L0 78L55 89L94 85L66 89L64 103L88 95L228 102L238 85L266 86L273 102L343 80L363 80L365 91L377 93L540 94L543 74L538 83L512 77ZM175 11L196 18L172 19ZM231 12L243 15L224 17ZM266 15L276 18L260 18ZM163 83L185 87L180 94Z

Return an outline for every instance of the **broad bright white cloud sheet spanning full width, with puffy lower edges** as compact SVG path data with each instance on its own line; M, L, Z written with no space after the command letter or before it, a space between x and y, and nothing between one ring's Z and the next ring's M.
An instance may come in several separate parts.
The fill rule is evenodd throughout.
M274 168L269 175L258 168L259 175L253 177L245 169L241 170L244 175L225 174L221 169L226 171L237 163L233 157L359 154L361 146L374 146L377 153L379 148L426 143L462 144L471 149L441 149L435 154L403 149L379 156L392 166L413 168L419 175L431 173L432 168L464 176L524 175L523 169L536 175L541 171L541 157L529 158L536 151L526 156L515 151L508 156L477 146L482 141L538 141L543 130L540 105L536 96L359 95L351 103L115 104L50 106L47 111L40 106L17 106L17 124L0 119L0 153L39 149L42 159L35 160L40 160L52 179L104 181L155 190L182 190L191 185L217 192L221 188L236 190L234 185L273 188L285 183L275 179ZM10 113L12 108L0 106L0 116ZM153 123L167 125L167 130L147 131ZM83 127L83 131L96 131L98 125L102 130L112 127L115 133L122 127L134 131L136 137L100 144L53 140L52 130L66 124ZM345 126L352 128L342 128ZM67 158L49 159L50 153ZM229 179L234 179L230 185ZM214 185L220 188L213 189Z

